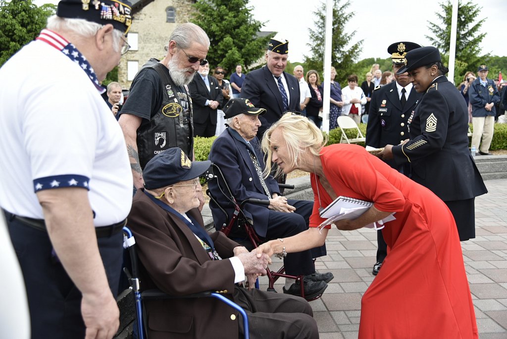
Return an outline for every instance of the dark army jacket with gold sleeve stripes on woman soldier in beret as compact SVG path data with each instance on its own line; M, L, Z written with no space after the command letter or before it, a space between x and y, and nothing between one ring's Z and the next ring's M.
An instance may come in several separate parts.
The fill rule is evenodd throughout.
M415 182L444 201L487 192L468 151L465 99L445 76L433 80L408 123L410 141L392 153L397 165L410 162Z

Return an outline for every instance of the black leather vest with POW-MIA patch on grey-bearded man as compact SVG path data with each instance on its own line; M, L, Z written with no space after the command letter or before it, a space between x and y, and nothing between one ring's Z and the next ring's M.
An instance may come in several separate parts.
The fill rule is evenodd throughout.
M141 168L158 153L172 148L181 148L192 159L194 149L194 127L192 99L187 86L176 86L167 67L157 63L150 68L157 71L162 80L163 101L149 124L137 130L137 150Z

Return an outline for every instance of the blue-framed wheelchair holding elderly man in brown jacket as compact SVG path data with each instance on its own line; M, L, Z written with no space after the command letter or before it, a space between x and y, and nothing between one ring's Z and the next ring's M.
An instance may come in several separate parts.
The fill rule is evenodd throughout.
M235 309L241 314L243 318L243 328L244 328L244 338L249 339L249 331L248 331L248 317L246 312L238 306L235 302L229 300L227 297L220 293L215 293L211 291L189 294L184 296L171 296L165 294L159 289L150 289L146 291L141 290L140 280L139 280L139 262L137 259L136 249L135 249L135 239L132 234L132 231L128 227L123 227L123 248L128 251L130 257L130 268L124 267L124 272L127 275L128 281L130 283L130 289L134 295L134 304L135 304L135 319L136 319L136 328L134 331L137 332L138 339L147 339L148 338L148 330L147 330L147 317L144 315L143 309L143 300L149 299L174 299L174 298L201 298L201 297L213 297L221 300L222 302L228 304L231 308Z

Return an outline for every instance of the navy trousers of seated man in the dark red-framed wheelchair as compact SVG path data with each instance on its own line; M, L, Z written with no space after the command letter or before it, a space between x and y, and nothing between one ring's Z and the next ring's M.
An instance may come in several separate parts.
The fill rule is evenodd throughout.
M307 200L287 200L287 203L296 208L295 213L266 209L269 213L268 230L266 232L267 240L287 238L308 229L308 218L313 209L313 202ZM312 258L322 255L325 255L325 245L312 250L289 253L283 259L285 273L289 275L315 273L315 265Z

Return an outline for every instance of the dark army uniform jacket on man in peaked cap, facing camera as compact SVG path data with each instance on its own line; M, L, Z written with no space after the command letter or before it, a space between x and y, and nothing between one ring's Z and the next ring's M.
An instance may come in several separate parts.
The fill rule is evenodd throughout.
M422 94L412 87L405 107L402 109L396 82L376 88L373 91L366 127L366 145L381 148L385 145L399 145L409 139L408 119ZM395 167L393 160L386 161Z

